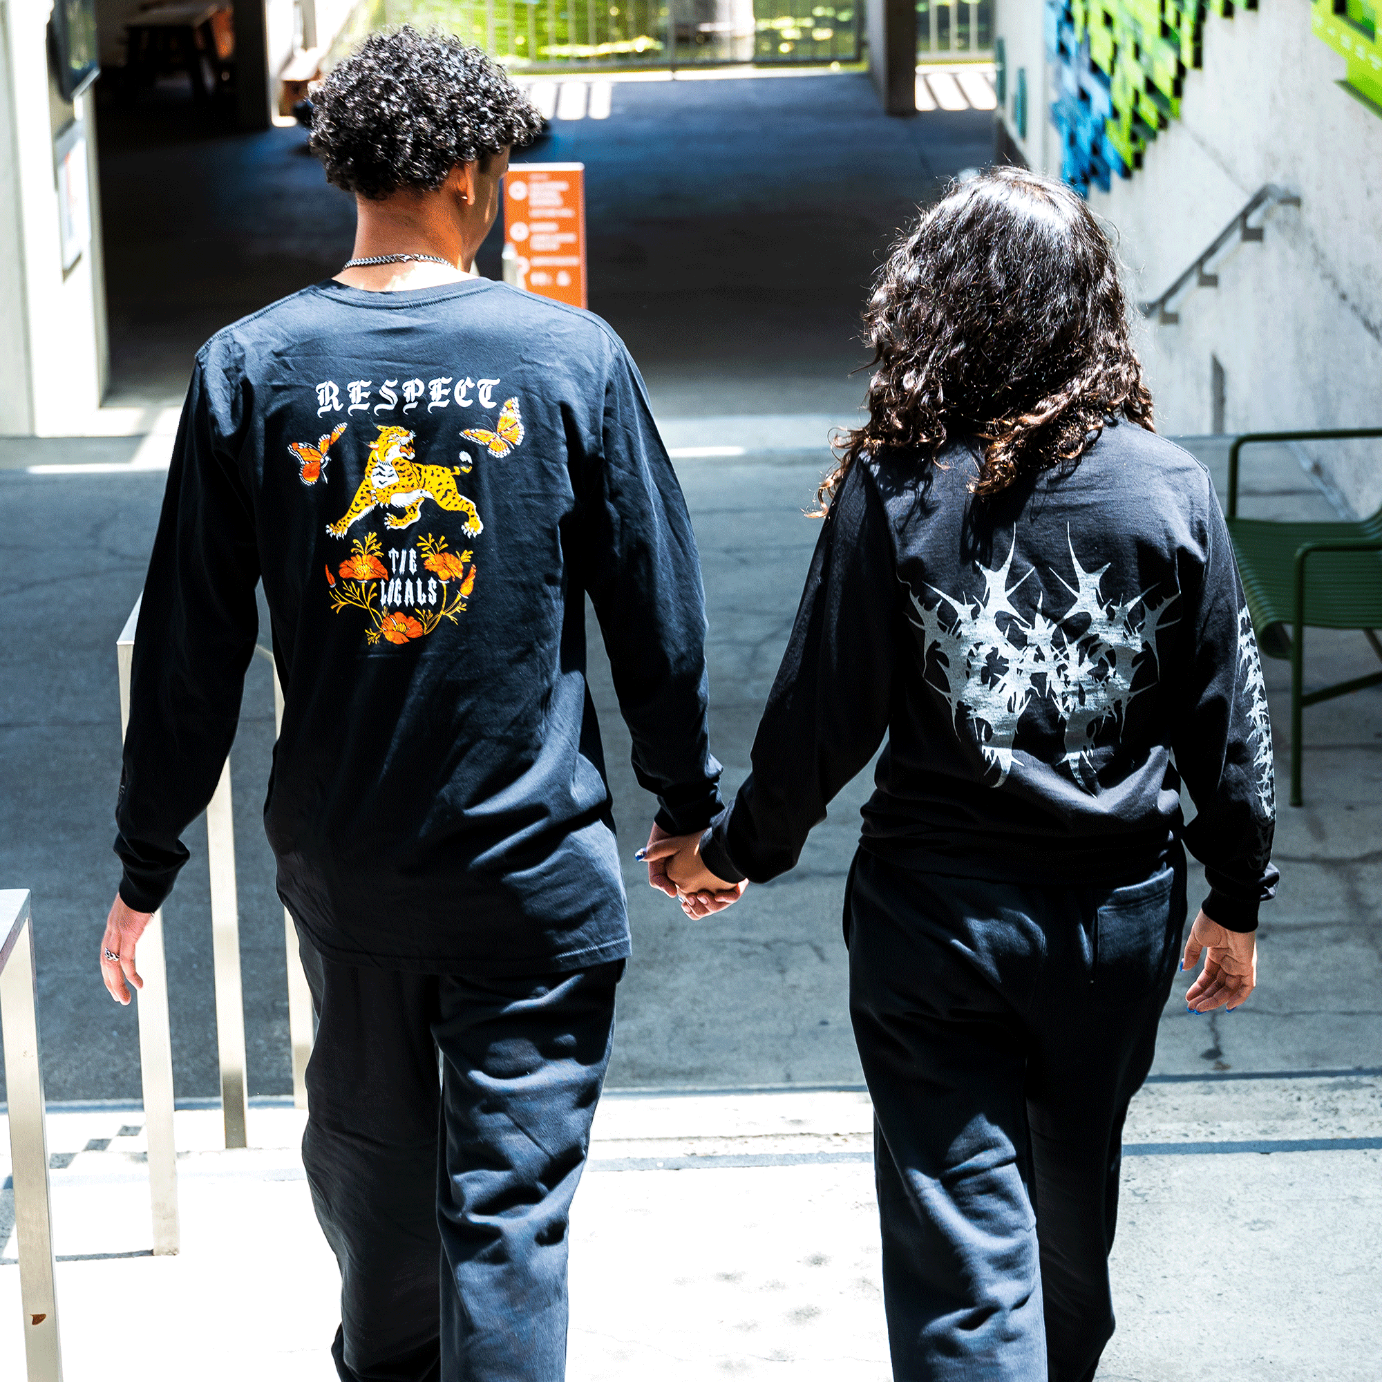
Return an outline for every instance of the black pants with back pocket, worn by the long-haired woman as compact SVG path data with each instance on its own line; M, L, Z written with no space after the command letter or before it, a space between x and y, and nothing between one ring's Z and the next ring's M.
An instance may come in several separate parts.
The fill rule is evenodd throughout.
M1090 1382L1184 855L1132 887L1061 889L861 851L844 918L894 1378Z

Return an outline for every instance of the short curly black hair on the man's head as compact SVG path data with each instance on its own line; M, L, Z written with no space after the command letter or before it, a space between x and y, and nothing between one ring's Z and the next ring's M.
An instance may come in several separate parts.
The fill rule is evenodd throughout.
M524 148L542 116L480 48L412 25L372 33L312 95L326 181L379 200L434 192L457 163Z

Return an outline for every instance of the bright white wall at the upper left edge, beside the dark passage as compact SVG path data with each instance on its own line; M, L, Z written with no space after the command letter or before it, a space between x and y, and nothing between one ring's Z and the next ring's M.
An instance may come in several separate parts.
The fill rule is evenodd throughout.
M105 387L95 130L88 102L57 95L47 58L51 0L0 0L0 434L93 426ZM54 140L87 137L91 242L62 268ZM57 126L57 127L55 127Z

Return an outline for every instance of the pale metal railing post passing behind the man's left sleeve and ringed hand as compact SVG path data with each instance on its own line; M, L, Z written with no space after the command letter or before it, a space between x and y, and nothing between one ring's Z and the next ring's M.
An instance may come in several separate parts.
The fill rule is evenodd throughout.
M130 668L134 663L134 630L142 597L115 643L120 666L120 738L130 724ZM173 1039L169 1028L169 973L163 954L163 912L153 914L140 937L140 977L144 988L135 998L140 1019L140 1081L144 1089L144 1130L149 1147L149 1204L153 1213L153 1252L178 1251L177 1150L173 1140Z

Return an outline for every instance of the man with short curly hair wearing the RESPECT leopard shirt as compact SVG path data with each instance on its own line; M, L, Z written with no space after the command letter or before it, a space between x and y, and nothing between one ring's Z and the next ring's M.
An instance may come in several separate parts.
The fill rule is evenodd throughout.
M140 612L102 974L120 1002L140 984L263 578L264 820L318 1019L303 1164L343 1382L565 1372L629 955L587 594L654 836L720 808L701 567L638 370L590 312L471 271L538 129L445 35L375 35L328 76L312 148L354 252L199 352Z

